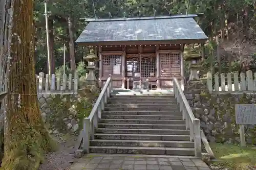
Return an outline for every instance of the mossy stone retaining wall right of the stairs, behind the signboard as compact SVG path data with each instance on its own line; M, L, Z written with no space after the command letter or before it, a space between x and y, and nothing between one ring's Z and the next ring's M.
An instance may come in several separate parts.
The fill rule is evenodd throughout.
M210 142L238 143L239 125L236 124L234 104L256 103L254 94L208 93L205 88L193 92L185 92L187 101L197 118L201 120L201 128ZM256 144L256 126L246 125L247 143Z

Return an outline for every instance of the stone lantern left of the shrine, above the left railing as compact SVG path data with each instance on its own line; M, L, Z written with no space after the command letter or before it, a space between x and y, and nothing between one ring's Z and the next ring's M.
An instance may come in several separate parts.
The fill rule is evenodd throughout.
M83 60L88 62L88 66L86 67L89 70L89 74L86 78L87 84L96 84L97 79L94 71L96 69L95 61L97 61L98 58L94 54L90 54L86 57L83 57Z

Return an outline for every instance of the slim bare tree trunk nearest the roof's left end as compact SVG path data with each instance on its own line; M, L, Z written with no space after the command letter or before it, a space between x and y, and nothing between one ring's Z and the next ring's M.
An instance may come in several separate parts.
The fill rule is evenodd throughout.
M72 31L72 21L71 18L68 18L69 22L69 54L70 54L70 69L74 73L76 70L76 62L75 62L75 51L74 51L74 38Z

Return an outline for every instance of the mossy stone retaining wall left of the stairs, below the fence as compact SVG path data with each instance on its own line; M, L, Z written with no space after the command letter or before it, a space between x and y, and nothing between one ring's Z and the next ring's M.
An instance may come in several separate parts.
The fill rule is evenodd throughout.
M41 116L53 135L77 134L82 128L82 119L89 116L98 91L88 90L79 94L40 94L38 101Z

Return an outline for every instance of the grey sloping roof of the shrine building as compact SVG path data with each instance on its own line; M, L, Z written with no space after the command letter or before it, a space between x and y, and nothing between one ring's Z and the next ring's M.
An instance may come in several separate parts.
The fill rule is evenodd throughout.
M92 21L77 43L154 40L207 40L194 18Z

